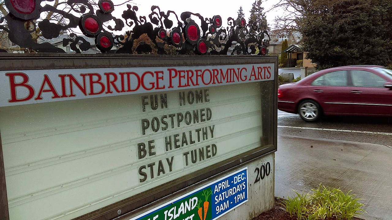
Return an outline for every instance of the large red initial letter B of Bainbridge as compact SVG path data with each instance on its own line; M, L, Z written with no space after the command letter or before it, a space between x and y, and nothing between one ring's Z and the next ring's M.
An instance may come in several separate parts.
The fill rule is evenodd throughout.
M9 77L9 88L11 90L11 99L9 99L9 102L21 102L21 101L27 101L34 97L34 88L27 84L29 81L29 77L24 74L23 72L9 72L6 73L5 76ZM21 83L15 83L15 76L20 76L23 78L23 81ZM18 99L16 97L16 87L25 87L29 90L29 94L23 98L23 99Z

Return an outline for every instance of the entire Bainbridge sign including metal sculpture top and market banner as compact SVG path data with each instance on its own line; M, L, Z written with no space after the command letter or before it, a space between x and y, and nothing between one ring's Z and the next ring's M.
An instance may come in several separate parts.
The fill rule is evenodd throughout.
M131 3L4 0L0 219L215 220L252 197L278 61L227 55L267 55L267 24Z

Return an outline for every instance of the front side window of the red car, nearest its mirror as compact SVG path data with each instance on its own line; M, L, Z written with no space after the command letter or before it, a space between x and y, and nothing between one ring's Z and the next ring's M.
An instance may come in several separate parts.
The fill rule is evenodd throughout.
M384 87L385 79L365 70L351 70L352 85L357 87Z

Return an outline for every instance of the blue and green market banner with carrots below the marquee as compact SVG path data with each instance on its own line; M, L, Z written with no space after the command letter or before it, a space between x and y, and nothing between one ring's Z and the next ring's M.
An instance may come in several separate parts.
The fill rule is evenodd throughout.
M244 168L130 220L215 220L248 201Z

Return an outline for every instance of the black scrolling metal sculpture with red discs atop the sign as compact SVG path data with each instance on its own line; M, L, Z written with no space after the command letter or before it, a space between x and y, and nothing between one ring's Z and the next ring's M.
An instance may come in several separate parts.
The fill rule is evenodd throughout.
M231 54L254 54L256 48L259 49L259 55L268 54L267 47L270 36L267 32L267 26L258 27L255 23L248 24L245 18L238 20L228 18L228 27L223 28L223 21L219 15L203 18L198 13L184 12L179 18L174 11L165 13L158 6L152 6L151 14L148 16L150 22L147 22L145 16L139 16L139 18L136 16L137 6L132 7L128 4L127 10L122 14L122 18L125 20L124 24L122 19L112 15L114 4L111 0L99 0L99 9L95 12L93 5L89 4L88 0L68 0L67 4L71 7L72 13L58 10L51 5L42 6L42 1L4 1L9 14L0 18L0 23L3 23L4 20L7 22L7 25L0 25L0 29L7 31L9 40L16 45L31 48L36 52L65 52L50 43L37 43L31 38L31 32L36 31L34 20L40 18L40 14L43 12L53 12L61 14L69 22L67 25L51 23L47 19L38 22L38 27L44 38L56 38L60 36L61 32L79 27L85 36L95 39L96 47L102 53L152 53L151 45L145 41L139 42L137 46L134 45L135 40L140 38L142 34L147 34L152 44L155 45L157 54L167 54L166 45L174 47L176 54L227 55L229 48L232 48ZM82 15L77 17L74 14ZM175 17L176 20L171 20L169 16ZM200 27L193 18L200 20ZM103 23L112 20L116 25L114 27L108 26L105 29ZM27 24L32 28L27 29ZM121 31L125 25L130 30L125 31L123 35L114 35L109 32ZM258 34L248 36L250 29ZM83 37L74 33L69 36L71 39L63 39L63 46L71 43L70 47L76 53L80 53L80 50L87 51L90 48L89 43ZM76 45L80 42L82 43L77 48ZM112 50L113 45L117 45L119 48Z

